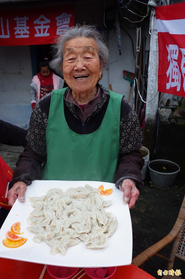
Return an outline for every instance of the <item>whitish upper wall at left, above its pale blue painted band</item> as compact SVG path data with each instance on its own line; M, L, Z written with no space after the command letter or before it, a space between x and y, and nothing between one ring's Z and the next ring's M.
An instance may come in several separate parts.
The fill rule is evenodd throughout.
M0 46L1 104L30 103L30 46Z

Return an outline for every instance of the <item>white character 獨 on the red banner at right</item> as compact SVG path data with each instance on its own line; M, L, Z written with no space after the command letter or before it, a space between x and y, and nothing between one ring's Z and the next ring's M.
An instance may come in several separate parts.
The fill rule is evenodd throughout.
M168 51L168 61L170 61L170 65L167 71L167 77L169 77L169 82L167 83L167 89L170 87L177 86L177 91L180 90L180 71L177 61L179 48L177 45L169 45L166 46Z

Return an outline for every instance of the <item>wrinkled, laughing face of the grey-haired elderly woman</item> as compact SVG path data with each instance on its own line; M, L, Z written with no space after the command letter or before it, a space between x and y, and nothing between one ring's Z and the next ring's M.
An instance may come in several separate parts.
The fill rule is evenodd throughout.
M62 71L72 92L89 93L102 73L97 44L93 38L78 37L64 44Z

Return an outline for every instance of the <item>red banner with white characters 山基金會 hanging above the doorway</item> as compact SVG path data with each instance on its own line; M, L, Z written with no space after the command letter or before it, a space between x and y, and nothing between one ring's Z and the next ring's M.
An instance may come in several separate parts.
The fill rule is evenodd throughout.
M74 25L74 6L0 11L0 46L43 45Z

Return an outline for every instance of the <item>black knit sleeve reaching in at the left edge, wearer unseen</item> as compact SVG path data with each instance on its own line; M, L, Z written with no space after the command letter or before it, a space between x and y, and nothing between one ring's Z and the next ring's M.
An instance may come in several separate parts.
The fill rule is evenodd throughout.
M0 144L26 146L27 130L0 120Z

